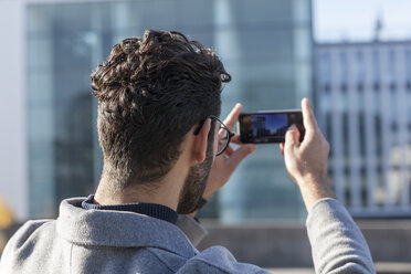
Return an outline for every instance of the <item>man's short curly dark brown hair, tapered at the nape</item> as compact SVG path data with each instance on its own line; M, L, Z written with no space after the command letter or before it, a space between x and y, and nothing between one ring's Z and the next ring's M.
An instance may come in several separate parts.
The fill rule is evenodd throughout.
M119 189L164 177L190 128L220 115L222 82L231 81L212 50L158 30L116 44L91 76L104 172Z

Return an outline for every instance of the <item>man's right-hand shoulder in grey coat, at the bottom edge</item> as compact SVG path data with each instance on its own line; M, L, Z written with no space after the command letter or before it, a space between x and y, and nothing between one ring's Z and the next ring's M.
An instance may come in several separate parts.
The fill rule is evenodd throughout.
M187 261L178 273L267 273L256 265L239 263L223 246L211 246Z

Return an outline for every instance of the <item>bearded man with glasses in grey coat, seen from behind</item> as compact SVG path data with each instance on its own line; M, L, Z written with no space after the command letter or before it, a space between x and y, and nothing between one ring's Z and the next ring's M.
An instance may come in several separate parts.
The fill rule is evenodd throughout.
M64 200L57 220L25 223L1 273L265 273L222 246L192 245L204 231L191 217L255 150L231 133L241 105L226 125L218 118L230 80L211 50L178 32L115 45L92 74L104 154L96 193ZM292 127L281 150L309 212L316 271L373 273L361 232L326 185L328 144L307 99L302 107L305 138Z

